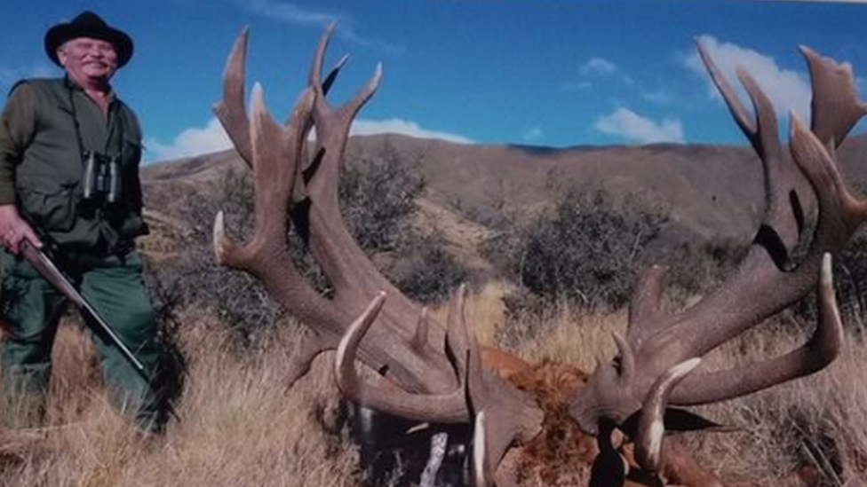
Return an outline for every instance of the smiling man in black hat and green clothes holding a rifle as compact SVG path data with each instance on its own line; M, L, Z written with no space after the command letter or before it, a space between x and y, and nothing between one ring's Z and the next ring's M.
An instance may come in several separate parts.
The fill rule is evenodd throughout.
M43 245L36 229L57 244L63 270L151 374L161 358L133 243L147 233L139 185L141 130L110 83L130 61L132 40L84 12L51 27L45 51L66 75L20 82L0 115L0 296L11 332L2 345L0 394L7 404L15 397L26 405L20 409L28 411L15 416L19 425L40 420L44 412L63 302L21 255L24 241ZM161 430L155 390L113 345L94 342L113 404L139 428Z

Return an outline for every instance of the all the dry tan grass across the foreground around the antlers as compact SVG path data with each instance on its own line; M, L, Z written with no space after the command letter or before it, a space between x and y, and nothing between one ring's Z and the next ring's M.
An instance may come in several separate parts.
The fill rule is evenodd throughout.
M496 299L501 285L468 302L468 322L492 343L503 323ZM441 312L442 310L440 310ZM614 353L612 331L624 313L583 314L563 309L541 326L545 334L514 351L531 362L550 358L592 369ZM357 453L343 436L327 433L316 415L335 395L321 357L295 388L282 386L293 334L282 332L243 356L218 323L187 318L182 348L189 358L187 386L166 436L143 439L107 405L89 342L66 327L55 350L48 426L0 435L0 485L349 486ZM813 465L828 485L862 485L867 473L867 350L849 336L843 356L806 380L707 408L736 433L684 436L702 465L730 480L776 479ZM715 352L709 369L742 364L791 350L806 340L776 326Z

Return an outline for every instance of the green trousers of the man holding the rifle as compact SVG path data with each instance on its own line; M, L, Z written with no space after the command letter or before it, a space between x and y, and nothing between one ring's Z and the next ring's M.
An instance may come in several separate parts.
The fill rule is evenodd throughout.
M3 252L2 302L11 333L4 335L0 355L0 394L12 395L19 426L41 420L52 371L52 345L57 332L55 311L60 295L20 256ZM118 257L76 258L64 271L76 282L84 299L99 313L126 346L155 377L161 361L156 341L155 311L142 280L141 255L136 250ZM127 361L115 345L92 334L103 379L112 404L135 420L142 430L163 428L164 411L158 392ZM4 397L8 404L9 397ZM4 413L4 421L9 422Z

